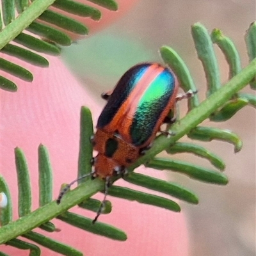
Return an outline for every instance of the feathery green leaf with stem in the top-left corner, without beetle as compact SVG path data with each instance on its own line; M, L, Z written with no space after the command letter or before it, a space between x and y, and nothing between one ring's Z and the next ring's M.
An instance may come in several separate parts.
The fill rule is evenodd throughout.
M92 2L109 10L117 10L114 0L94 0ZM54 8L49 10L51 5ZM59 10L64 11L65 14L59 13ZM18 13L17 17L15 17L15 12ZM0 17L3 17L3 23L0 23L1 52L27 61L32 65L48 67L48 61L31 50L58 55L61 52L60 45L72 44L68 32L78 35L88 34L88 28L77 19L68 17L68 13L90 17L93 20L99 20L101 17L97 8L72 0L3 0L0 10ZM35 36L28 35L26 31ZM41 39L36 38L36 35ZM19 45L13 45L12 40ZM24 46L28 49L24 49ZM0 60L1 70L24 81L33 81L33 74L26 68L4 58ZM17 91L17 85L3 76L0 77L0 88L10 92Z

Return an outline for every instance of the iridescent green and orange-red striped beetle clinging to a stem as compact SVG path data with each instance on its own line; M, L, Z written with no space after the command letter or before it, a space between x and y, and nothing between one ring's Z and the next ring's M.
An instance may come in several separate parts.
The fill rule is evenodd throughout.
M175 108L177 100L190 97L190 92L177 95L178 87L170 68L159 63L140 63L125 72L112 91L102 94L108 102L92 138L93 149L98 154L92 159L94 170L89 175L106 182L104 199L93 223L104 207L111 177L124 175L127 167L145 154L161 125L172 122L168 113ZM61 191L58 203L74 182Z

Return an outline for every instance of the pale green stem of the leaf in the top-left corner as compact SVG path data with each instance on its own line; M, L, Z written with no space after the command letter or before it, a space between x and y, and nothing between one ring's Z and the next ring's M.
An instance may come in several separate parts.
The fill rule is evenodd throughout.
M0 49L4 45L12 41L25 28L27 28L33 20L40 16L55 0L35 0L24 12L6 26L0 33Z

